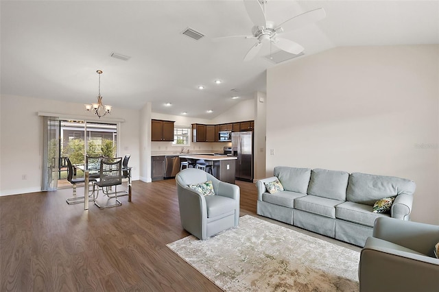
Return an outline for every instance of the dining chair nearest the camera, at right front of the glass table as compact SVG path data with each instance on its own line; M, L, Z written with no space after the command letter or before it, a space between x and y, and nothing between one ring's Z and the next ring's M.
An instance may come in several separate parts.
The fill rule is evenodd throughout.
M121 206L122 203L117 199L117 186L122 184L122 158L101 158L100 161L99 181L93 182L93 201L99 208ZM115 191L112 191L112 186L115 187ZM108 197L106 205L97 202L99 189ZM110 204L110 199L115 199L115 203Z

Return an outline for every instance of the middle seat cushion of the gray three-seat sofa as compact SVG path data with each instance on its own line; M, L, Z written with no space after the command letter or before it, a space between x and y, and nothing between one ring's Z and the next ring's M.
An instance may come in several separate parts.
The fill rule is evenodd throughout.
M294 208L324 217L335 218L335 206L342 204L343 201L306 195L294 200Z

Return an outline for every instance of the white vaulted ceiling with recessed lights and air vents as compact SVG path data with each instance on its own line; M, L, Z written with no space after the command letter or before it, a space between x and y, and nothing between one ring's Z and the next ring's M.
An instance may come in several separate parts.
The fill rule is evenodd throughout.
M299 58L338 46L439 43L439 1L269 0L266 14L282 23L320 7L325 19L283 35L305 47ZM187 27L204 38L182 35ZM136 109L150 101L153 112L212 119L265 92L265 71L275 65L261 57L270 46L244 62L254 40L212 40L248 35L251 27L241 0L2 0L1 94L89 104L101 69L104 104Z

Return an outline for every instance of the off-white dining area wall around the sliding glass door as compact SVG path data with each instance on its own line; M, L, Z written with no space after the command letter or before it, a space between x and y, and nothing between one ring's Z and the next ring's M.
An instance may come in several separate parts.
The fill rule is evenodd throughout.
M1 95L0 104L0 195L41 190L41 126L37 112L95 119L84 111L83 104L12 95ZM132 178L139 180L139 111L113 108L110 118L125 119L119 127L119 155L131 154ZM101 120L109 121L106 117Z

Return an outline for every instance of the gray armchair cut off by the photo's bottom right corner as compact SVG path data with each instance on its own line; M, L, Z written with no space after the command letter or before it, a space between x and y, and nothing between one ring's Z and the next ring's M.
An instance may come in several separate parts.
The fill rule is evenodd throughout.
M439 291L439 226L380 217L359 261L360 292Z

